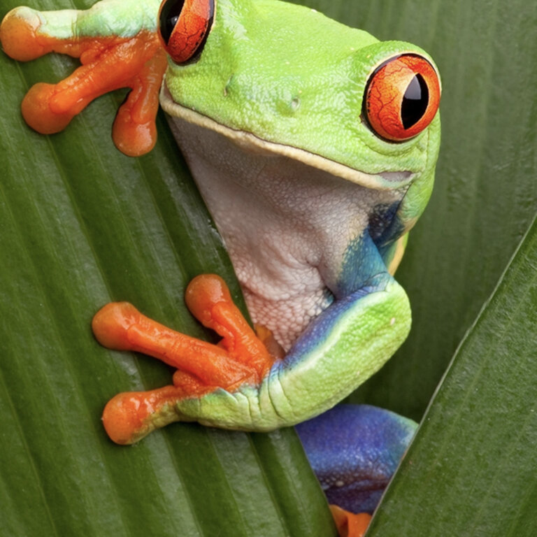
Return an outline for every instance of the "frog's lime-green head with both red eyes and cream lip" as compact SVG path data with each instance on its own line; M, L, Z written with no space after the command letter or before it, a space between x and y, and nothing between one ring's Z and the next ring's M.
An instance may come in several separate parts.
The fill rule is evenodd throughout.
M430 191L441 90L423 50L278 0L164 0L159 19L171 115L366 187Z

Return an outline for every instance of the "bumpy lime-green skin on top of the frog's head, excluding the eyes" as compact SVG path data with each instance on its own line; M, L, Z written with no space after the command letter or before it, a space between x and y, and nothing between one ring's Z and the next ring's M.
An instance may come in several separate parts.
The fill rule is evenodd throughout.
M433 63L415 45L381 43L303 6L218 0L199 61L170 61L166 85L182 106L264 140L367 173L417 172L435 160L431 152L438 143L429 137L438 139L438 117L400 144L380 140L360 120L368 75L385 59L409 51Z

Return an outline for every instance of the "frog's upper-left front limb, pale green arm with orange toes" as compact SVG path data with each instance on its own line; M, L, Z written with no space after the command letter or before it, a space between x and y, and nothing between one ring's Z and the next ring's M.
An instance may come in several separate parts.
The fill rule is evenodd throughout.
M3 50L27 61L60 52L82 66L65 80L31 87L21 104L41 134L64 129L97 96L130 87L117 113L113 139L127 155L148 152L157 139L155 116L166 55L157 36L159 0L102 0L88 10L15 8L0 27Z

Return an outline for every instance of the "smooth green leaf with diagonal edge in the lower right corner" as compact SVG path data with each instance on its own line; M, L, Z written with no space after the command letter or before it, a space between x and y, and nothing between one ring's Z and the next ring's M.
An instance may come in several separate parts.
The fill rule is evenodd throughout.
M536 313L537 220L457 350L368 536L535 535Z

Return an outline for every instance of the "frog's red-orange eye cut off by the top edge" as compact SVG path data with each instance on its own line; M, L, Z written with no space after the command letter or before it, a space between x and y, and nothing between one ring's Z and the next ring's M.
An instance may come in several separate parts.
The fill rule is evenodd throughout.
M159 10L159 36L176 64L198 59L213 22L215 0L164 0Z

